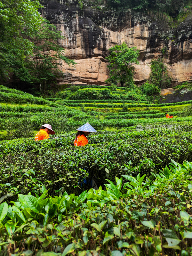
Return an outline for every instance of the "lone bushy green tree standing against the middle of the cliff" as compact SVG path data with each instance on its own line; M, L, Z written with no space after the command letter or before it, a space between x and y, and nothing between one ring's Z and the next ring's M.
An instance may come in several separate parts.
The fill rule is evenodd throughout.
M139 50L136 50L136 47L129 48L125 43L111 47L106 58L110 63L108 65L110 77L105 82L110 84L120 82L121 87L124 84L127 87L132 86L134 70L132 63L139 64L138 57Z

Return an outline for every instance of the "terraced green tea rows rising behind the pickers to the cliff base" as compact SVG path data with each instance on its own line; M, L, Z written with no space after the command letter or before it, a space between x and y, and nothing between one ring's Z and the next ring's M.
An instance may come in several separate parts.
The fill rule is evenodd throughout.
M82 87L79 89L77 87L75 92L72 87L72 91L69 88L59 93L59 95L64 95L67 92L71 95L70 97L75 94L78 100L61 98L45 100L0 86L1 140L34 136L44 123L51 124L56 133L60 134L74 131L86 122L98 130L120 129L137 124L170 123L176 120L180 122L186 120L179 116L192 102L152 104L148 103L145 98L143 100L124 100L124 95L131 92L126 92L123 89L115 91L120 98L118 100L102 99L102 97L99 100L87 100L86 95L90 93L94 96L92 92L97 90L98 94L102 91L107 91L106 95L116 94L110 91L110 86L108 88L104 86L102 88L97 88L98 86L96 88L94 86ZM81 92L86 92L84 97ZM81 94L81 97L78 97L78 93ZM100 95L102 94L100 93ZM165 112L173 114L174 119L166 120Z

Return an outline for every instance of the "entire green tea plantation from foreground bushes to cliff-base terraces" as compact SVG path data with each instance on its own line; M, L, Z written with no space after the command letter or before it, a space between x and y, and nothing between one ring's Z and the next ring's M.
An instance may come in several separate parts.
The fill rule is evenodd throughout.
M44 100L0 86L0 256L191 255L191 101L82 87ZM75 148L86 122L98 132ZM59 139L36 142L43 123Z

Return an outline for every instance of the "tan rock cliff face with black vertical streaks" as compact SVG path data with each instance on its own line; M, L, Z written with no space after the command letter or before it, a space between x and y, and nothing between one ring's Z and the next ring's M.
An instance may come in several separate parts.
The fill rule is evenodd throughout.
M136 84L145 82L151 72L150 61L162 56L166 46L165 65L172 73L172 86L192 80L192 17L177 29L170 29L160 17L131 11L115 12L89 6L81 10L75 0L44 0L41 13L55 24L65 39L60 40L66 57L75 67L64 65L66 77L59 83L105 84L108 78L108 49L125 42L140 50L140 65L135 65ZM166 18L166 17L165 17Z

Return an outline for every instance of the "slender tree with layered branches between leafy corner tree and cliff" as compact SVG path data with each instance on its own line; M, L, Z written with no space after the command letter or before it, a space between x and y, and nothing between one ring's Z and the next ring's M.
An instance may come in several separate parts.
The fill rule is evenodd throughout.
M65 63L75 65L74 60L69 60L64 56L65 50L57 42L63 39L61 31L53 24L49 24L46 20L39 31L35 31L32 35L31 41L34 44L32 61L29 61L28 68L33 77L34 82L39 83L40 92L44 87L46 90L47 82L53 82L56 77L63 76L62 67L63 60Z

